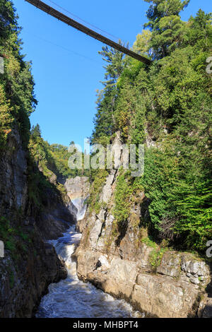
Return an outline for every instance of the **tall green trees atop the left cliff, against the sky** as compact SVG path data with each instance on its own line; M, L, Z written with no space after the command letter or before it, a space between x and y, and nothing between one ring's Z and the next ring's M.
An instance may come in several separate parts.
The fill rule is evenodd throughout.
M30 63L23 61L20 28L11 1L0 0L0 56L4 57L4 74L0 75L0 152L8 135L18 126L23 145L28 144L29 115L35 109L34 81Z

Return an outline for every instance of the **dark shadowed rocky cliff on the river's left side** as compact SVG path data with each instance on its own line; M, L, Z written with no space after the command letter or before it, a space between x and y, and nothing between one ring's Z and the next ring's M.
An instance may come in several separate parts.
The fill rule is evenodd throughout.
M64 263L46 240L61 235L74 218L50 187L43 206L35 206L28 158L18 129L13 129L0 160L0 239L5 245L0 259L0 317L31 317L49 283L66 278Z

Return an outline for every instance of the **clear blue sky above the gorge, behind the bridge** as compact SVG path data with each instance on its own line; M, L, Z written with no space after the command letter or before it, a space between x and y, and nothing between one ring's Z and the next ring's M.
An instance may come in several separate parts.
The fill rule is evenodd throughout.
M53 0L43 1L61 10L52 4ZM130 46L146 23L149 6L143 0L54 2L124 42L129 41ZM182 13L182 20L194 16L199 8L211 11L210 2L191 0ZM17 8L19 25L23 27L20 37L24 42L23 53L27 54L25 59L33 61L35 95L39 103L30 117L31 124L40 124L42 136L49 143L68 146L75 141L83 146L83 139L93 131L96 90L102 88L104 61L98 54L102 43L24 0L13 0L13 3Z

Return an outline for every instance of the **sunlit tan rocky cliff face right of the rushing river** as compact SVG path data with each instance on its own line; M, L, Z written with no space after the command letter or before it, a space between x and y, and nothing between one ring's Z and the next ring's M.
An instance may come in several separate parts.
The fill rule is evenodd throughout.
M148 237L148 199L139 192L131 200L129 218L114 219L118 172L112 170L98 196L100 209L89 208L78 221L83 233L73 254L78 278L130 302L146 316L210 316L211 272L194 254L158 246Z

